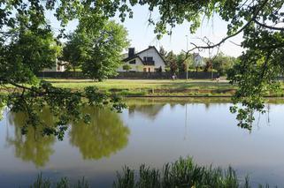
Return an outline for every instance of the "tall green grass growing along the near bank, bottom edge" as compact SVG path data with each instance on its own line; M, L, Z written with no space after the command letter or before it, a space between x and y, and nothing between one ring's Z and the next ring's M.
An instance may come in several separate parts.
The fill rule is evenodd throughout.
M76 184L70 184L67 178L61 178L52 184L50 179L37 177L31 188L88 188L91 187L83 178ZM124 167L113 182L114 188L249 188L249 177L238 179L234 169L203 167L196 165L192 158L180 158L176 162L166 163L162 170L150 169L141 165L138 171ZM255 187L255 186L254 186ZM259 184L259 188L269 188Z

